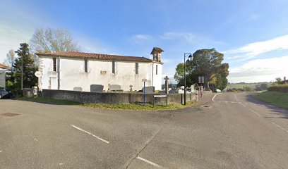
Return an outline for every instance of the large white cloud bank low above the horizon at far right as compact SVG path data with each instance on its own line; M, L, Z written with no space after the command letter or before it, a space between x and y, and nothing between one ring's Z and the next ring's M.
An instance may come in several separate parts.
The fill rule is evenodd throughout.
M249 61L239 68L229 69L229 82L270 82L288 76L288 56Z

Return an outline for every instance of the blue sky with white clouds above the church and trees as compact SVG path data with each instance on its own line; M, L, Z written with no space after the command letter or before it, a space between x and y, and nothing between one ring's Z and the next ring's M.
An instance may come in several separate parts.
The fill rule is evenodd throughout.
M184 52L215 48L229 82L288 76L288 0L1 1L0 62L35 28L69 30L82 51L150 57L173 77Z

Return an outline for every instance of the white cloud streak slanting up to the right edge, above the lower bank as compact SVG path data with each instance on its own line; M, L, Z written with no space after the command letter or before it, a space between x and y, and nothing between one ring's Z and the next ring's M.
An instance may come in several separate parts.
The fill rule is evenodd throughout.
M288 49L288 35L282 37L276 37L263 42L254 42L246 44L238 49L232 49L224 51L224 54L232 57L232 59L246 60L254 58L260 54L265 54L268 51L274 51L277 49Z

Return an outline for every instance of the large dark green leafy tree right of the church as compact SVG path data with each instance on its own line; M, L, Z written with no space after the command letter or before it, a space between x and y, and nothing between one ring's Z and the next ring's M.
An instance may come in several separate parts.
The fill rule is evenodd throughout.
M229 75L229 64L222 63L224 55L215 49L200 49L193 54L192 61L186 61L186 84L187 86L198 83L198 77L204 76L204 87L212 90L227 87L227 76ZM182 66L183 65L183 66ZM184 84L184 63L176 67L174 79L178 86ZM208 87L209 82L209 87Z

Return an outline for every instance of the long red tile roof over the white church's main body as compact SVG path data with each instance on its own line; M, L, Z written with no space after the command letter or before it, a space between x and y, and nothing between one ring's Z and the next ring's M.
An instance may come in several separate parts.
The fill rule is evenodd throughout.
M63 56L70 58L94 58L109 61L139 61L139 62L153 62L149 58L136 57L136 56L120 56L109 54L91 54L77 51L57 51L54 53L36 53L38 56Z

